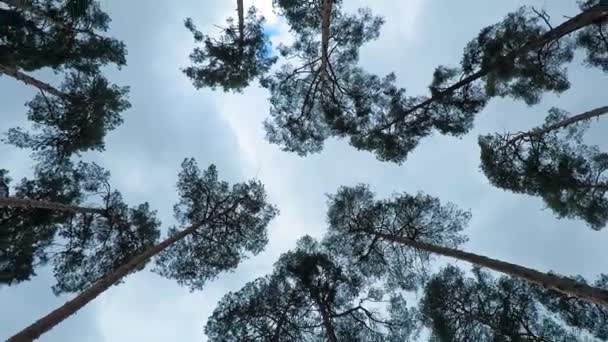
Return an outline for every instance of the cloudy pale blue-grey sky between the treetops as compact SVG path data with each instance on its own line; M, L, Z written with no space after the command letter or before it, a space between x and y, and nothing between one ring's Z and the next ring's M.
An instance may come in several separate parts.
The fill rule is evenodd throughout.
M288 27L272 13L271 2L245 0L245 6L253 3L266 15L275 44L289 41ZM479 169L480 134L528 130L541 124L554 106L581 113L606 105L608 75L582 66L580 56L569 67L568 92L546 94L534 107L494 99L470 134L427 138L402 165L380 162L341 140L328 141L322 153L302 158L264 139L266 90L253 85L241 94L197 91L180 71L194 48L184 18L192 17L201 31L213 33L214 24L235 15L233 1L101 3L112 18L109 34L128 48L128 65L108 69L106 75L131 87L132 108L123 113L124 124L107 136L106 151L84 158L111 171L115 188L128 203L149 202L163 229L174 223L175 183L186 157L194 157L201 168L216 164L220 177L231 183L260 179L280 216L269 226L264 252L202 291L190 292L148 268L103 293L41 341L204 341L206 319L224 294L270 273L278 256L299 237L323 235L326 196L341 185L368 183L379 198L424 191L471 210L465 231L469 241L463 248L474 253L589 279L608 273L608 229L592 231L581 221L558 220L541 199L494 188ZM436 66L458 63L463 47L482 27L523 4L545 9L553 23L577 13L574 1L565 0L351 0L345 6L368 6L386 20L380 38L363 47L361 65L377 74L394 71L398 84L418 95L427 93ZM51 73L35 75L58 80ZM23 104L34 91L7 77L0 77L0 89L0 132L27 125ZM607 129L607 119L594 122L585 141L606 151ZM0 145L0 168L9 169L14 179L29 176L28 154ZM43 269L29 282L0 287L0 339L72 297L55 297L52 284L52 275Z

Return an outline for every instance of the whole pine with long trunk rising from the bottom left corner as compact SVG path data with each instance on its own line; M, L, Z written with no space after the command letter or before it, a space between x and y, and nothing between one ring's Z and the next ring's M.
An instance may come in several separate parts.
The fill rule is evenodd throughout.
M186 159L177 187L180 201L174 208L175 216L188 227L169 229L163 241L140 249L139 254L120 264L118 260L107 260L117 267L8 340L31 341L40 337L129 273L142 269L154 256L158 255L156 272L200 289L220 272L234 269L247 254L257 254L264 248L266 227L277 211L266 202L261 183L249 181L230 188L227 182L218 180L214 165L201 174L196 162ZM133 216L139 217L135 213Z

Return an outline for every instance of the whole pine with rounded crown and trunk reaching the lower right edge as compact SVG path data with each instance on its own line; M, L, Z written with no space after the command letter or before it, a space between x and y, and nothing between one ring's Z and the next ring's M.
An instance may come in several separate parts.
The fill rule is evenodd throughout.
M376 201L364 185L343 187L330 200L327 238L338 253L393 287L413 290L423 284L431 256L439 255L608 308L608 291L602 288L457 249L465 241L461 231L469 216L424 194Z

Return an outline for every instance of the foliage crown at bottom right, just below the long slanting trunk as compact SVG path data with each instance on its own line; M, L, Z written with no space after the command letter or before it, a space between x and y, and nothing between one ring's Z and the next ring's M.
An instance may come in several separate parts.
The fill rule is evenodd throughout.
M540 309L528 283L454 266L434 275L420 312L435 341L583 341Z

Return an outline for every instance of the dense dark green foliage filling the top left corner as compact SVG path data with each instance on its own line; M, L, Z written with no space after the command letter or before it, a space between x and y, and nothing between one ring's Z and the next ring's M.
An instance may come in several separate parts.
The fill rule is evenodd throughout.
M100 35L110 18L98 1L34 0L26 6L0 9L1 65L91 72L109 63L126 64L124 43Z

